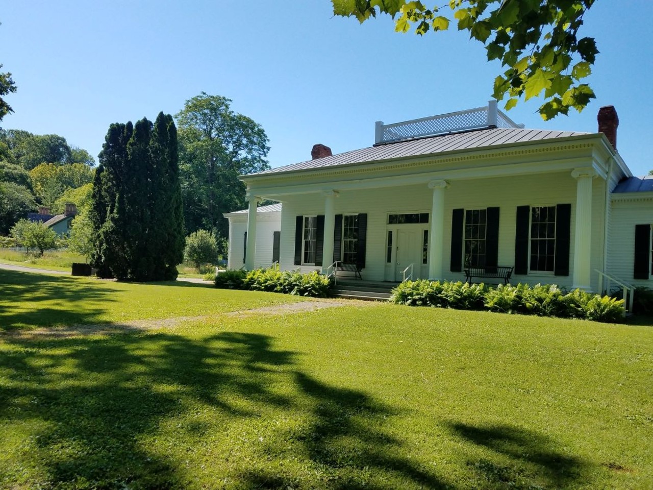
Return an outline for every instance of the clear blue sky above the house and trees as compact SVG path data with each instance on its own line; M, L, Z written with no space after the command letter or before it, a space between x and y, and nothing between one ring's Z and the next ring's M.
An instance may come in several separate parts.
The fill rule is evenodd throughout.
M535 114L541 101L508 115L594 132L599 107L614 105L620 154L635 174L653 169L651 18L650 0L597 0L582 33L601 51L596 101L550 122ZM3 127L56 133L96 157L110 123L175 114L206 91L263 125L277 167L310 159L315 143L369 146L377 120L486 105L500 72L462 33L398 34L387 16L359 25L328 0L0 0L0 22L0 63L18 85Z

